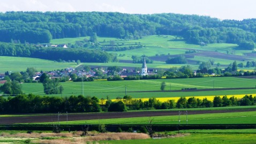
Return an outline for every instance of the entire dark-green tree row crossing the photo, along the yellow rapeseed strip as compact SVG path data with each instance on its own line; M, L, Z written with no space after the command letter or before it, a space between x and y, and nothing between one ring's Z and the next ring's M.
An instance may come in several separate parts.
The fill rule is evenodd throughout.
M142 109L180 109L180 108L210 108L210 107L230 107L237 105L255 105L256 97L245 95L238 99L235 96L215 96L213 101L204 98L200 100L195 97L180 97L177 102L168 100L160 102L156 98L149 98L146 101L133 99L131 96L124 96L112 102L100 100L93 96L84 97L49 97L38 95L18 95L15 97L4 98L0 96L0 113L49 113L49 112L100 112L100 111L127 111Z

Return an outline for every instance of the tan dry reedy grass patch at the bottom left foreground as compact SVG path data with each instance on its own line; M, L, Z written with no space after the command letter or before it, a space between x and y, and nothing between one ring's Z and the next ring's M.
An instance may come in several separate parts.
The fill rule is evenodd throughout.
M81 137L82 132L30 132L26 131L2 131L0 132L0 143L95 143L102 140L131 140L131 139L150 139L144 133L99 133L96 131L88 132L86 137Z

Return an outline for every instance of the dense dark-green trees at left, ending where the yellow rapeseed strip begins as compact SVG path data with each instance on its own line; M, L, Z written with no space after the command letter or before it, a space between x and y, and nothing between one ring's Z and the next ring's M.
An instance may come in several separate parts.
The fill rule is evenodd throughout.
M18 95L0 96L1 113L44 113L44 112L99 112L101 111L97 97L70 96L69 98Z

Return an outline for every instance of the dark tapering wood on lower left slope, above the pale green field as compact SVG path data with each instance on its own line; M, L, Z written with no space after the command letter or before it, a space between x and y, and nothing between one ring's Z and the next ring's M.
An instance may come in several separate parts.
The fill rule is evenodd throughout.
M42 48L34 44L0 43L0 56L33 57L49 60L77 60L81 62L107 63L117 61L117 57L95 49Z

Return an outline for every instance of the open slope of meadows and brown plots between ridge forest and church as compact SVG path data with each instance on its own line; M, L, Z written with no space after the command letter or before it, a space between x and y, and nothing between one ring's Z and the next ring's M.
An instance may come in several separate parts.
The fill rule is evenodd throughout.
M51 40L52 44L71 43L75 44L77 41L89 39L89 37L76 37ZM184 64L166 64L165 60L168 57L177 57L184 55L194 70L198 69L197 62L207 62L209 59L215 60L214 66L217 63L221 67L227 67L230 63L237 61L246 65L247 61L256 60L255 57L247 56L253 54L252 50L240 50L237 44L229 43L213 43L207 46L199 46L197 44L186 43L184 39L177 39L177 36L172 35L150 35L144 36L139 40L123 40L116 39L115 37L97 37L98 42L102 49L115 48L115 51L108 50L107 52L115 54L119 63L86 63L91 66L115 66L122 65L123 67L141 67L141 63L133 63L132 56L146 55L149 59L153 60L152 64L147 64L150 68L169 69L170 67L180 67ZM123 47L143 46L142 48L135 48L123 50ZM186 51L195 50L195 53L186 54ZM227 52L229 54L227 54ZM185 64L186 65L186 64ZM250 70L251 67L241 68Z

